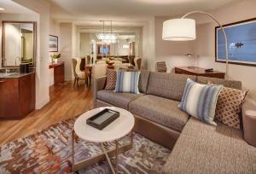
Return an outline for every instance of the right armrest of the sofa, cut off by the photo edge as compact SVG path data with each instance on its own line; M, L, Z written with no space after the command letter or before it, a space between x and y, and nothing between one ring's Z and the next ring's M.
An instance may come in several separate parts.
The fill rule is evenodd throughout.
M247 100L242 106L242 123L244 139L256 147L256 106L250 100Z

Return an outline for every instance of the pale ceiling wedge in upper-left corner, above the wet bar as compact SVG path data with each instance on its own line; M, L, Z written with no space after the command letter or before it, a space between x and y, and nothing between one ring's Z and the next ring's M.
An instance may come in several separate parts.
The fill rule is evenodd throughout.
M0 0L0 7L5 10L0 11L0 13L9 13L9 14L32 14L34 13L30 9L26 9L18 3L15 3L11 0Z

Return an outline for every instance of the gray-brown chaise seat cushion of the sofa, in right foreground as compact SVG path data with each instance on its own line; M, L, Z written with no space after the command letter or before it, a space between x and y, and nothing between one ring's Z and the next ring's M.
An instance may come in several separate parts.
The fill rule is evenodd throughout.
M191 118L172 149L165 173L255 173L256 148L241 132L218 123L206 125Z

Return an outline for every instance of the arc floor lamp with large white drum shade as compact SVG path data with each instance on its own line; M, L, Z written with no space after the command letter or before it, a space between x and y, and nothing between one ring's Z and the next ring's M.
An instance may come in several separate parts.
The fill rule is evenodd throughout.
M185 18L190 14L206 14L207 16L212 18L212 20L214 20L221 28L224 34L225 41L226 78L229 78L228 39L224 31L224 27L218 22L218 20L214 16L212 16L212 14L208 14L203 11L192 11L188 14L184 14L183 17L179 19L166 20L163 23L162 39L171 41L195 40L195 20Z

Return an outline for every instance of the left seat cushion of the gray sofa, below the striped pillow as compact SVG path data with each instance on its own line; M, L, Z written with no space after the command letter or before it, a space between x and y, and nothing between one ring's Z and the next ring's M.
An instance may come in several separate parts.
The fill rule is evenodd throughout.
M113 90L99 90L97 91L97 99L103 102L108 102L116 107L122 107L128 110L129 103L143 94L131 93L115 93Z

